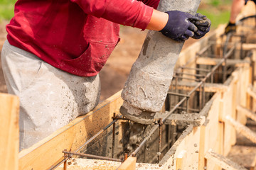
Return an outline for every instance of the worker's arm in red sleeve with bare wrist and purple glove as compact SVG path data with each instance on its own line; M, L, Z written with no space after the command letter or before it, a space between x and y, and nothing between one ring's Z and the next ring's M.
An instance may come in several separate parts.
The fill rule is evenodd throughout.
M85 13L105 18L108 21L124 26L160 30L161 33L173 40L184 41L192 37L196 26L190 20L198 17L181 11L167 11L166 13L146 6L142 1L131 0L71 0L78 4ZM167 14L167 15L166 15ZM199 18L200 19L200 18Z

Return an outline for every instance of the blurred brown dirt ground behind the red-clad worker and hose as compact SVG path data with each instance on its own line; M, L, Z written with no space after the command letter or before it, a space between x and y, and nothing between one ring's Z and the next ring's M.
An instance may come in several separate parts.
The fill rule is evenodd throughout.
M5 25L8 21L3 21L0 24L0 50L6 40L6 30ZM142 31L137 28L130 28L127 26L121 26L120 38L121 41L117 47L112 52L110 59L103 67L100 72L101 79L101 97L100 100L103 101L106 98L117 93L117 91L122 90L125 81L129 75L129 71L132 64L135 62L139 56L139 52L142 48L144 39L146 37L147 31ZM186 41L183 47L191 45L191 43L196 40L189 39ZM1 57L1 56L0 56ZM7 93L6 84L4 82L4 75L1 69L0 60L0 92Z

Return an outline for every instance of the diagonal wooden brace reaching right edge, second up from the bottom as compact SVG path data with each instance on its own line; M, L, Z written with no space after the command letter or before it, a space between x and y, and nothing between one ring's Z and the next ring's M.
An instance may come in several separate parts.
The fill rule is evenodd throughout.
M229 115L227 115L225 117L225 120L227 120L227 122L230 123L230 125L233 125L233 127L235 128L235 130L237 130L237 132L241 132L242 135L247 137L252 142L256 143L256 133L255 132L253 132L252 130L247 128L245 125L242 125L238 121L235 121Z

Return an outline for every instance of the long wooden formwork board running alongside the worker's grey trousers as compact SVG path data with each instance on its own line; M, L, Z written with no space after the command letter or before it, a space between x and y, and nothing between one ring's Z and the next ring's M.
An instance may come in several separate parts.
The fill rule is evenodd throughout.
M64 149L78 149L112 121L114 112L119 113L123 102L120 94L121 91L117 92L90 113L76 118L36 145L21 151L18 155L19 169L48 169L63 157Z

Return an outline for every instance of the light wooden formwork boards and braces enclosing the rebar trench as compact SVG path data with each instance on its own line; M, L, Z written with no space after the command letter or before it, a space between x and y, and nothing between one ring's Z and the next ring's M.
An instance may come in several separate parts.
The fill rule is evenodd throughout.
M191 63L215 64L216 61L196 57L208 42L218 42L225 26L219 26L210 35L194 43L181 52L176 67ZM246 45L256 58L256 45ZM213 97L200 111L204 119L200 125L188 125L178 140L164 155L159 164L136 163L135 157L129 157L124 163L83 159L68 169L244 169L225 156L236 142L235 131L244 132L252 141L256 141L255 132L245 128L247 118L255 118L255 110L247 110L255 97L251 86L252 69L247 58L238 63L235 71L224 84L206 84L206 91ZM192 62L191 62L192 61ZM191 83L192 84L192 83ZM178 88L189 89L193 84L181 84ZM0 94L1 125L1 169L49 169L64 159L63 150L74 151L112 121L113 113L119 113L122 106L121 91L100 103L93 111L80 116L70 124L60 128L52 135L28 149L18 153L18 98ZM253 99L255 101L255 99ZM255 109L255 102L252 106ZM122 121L121 121L122 123ZM121 128L120 126L117 126ZM6 130L6 131L5 131ZM108 130L111 132L111 130ZM4 139L4 140L2 140ZM106 138L106 142L110 140ZM119 139L117 139L118 141ZM254 141L254 142L255 142ZM111 150L107 150L111 152ZM83 163L82 163L83 162ZM63 169L58 167L57 169Z

